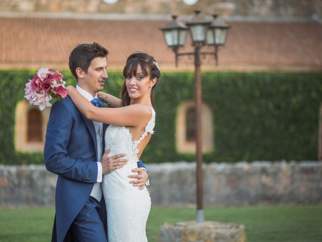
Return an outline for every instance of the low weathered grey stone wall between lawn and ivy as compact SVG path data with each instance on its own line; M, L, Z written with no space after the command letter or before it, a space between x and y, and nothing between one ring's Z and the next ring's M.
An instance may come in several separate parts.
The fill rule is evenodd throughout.
M153 205L190 205L195 163L147 164ZM56 175L42 165L0 165L0 206L53 206ZM322 203L322 162L204 164L205 205Z

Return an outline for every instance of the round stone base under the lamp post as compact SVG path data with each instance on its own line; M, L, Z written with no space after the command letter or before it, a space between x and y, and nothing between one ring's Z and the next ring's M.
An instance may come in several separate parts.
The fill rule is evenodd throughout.
M165 223L160 227L159 242L246 242L244 225L206 221Z

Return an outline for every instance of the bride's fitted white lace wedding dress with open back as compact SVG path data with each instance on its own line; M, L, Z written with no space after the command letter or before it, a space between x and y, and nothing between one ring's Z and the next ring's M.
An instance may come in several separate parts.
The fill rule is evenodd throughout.
M110 125L105 134L105 150L110 147L109 156L125 153L128 163L103 176L103 194L107 209L109 242L143 242L147 241L145 225L151 207L151 199L146 187L139 190L129 183L127 176L134 174L137 168L137 146L144 137L151 133L155 124L155 112L151 107L152 117L142 136L132 141L130 130L124 126Z

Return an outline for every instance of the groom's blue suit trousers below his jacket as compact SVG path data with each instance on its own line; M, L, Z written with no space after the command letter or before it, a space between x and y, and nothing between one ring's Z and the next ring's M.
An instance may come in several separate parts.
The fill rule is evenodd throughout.
M106 222L104 199L102 198L99 202L95 198L89 197L81 212L70 225L69 234L72 241L107 242Z

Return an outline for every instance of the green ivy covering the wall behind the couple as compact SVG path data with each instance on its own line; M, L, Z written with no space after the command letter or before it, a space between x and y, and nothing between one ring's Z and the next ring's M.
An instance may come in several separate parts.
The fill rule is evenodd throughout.
M15 151L15 108L35 71L0 71L0 163L43 163L40 153ZM69 71L67 84L75 84ZM121 72L109 72L105 89L119 96ZM215 151L205 162L316 160L322 73L202 74L203 100L213 111ZM145 163L194 160L178 154L177 107L194 99L193 73L162 73L155 88L156 127Z

